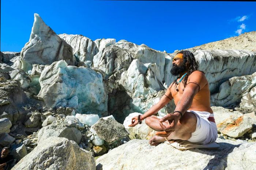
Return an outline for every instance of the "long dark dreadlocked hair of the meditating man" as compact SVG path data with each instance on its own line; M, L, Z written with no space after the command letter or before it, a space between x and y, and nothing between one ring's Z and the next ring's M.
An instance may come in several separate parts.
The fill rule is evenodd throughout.
M184 87L187 86L187 81L188 81L188 76L194 72L195 70L198 69L198 65L196 63L196 59L193 53L191 53L188 50L184 50L184 51L180 51L177 54L183 54L183 62L187 63L188 62L188 67L187 67L187 74L186 76L183 78L182 83L184 84ZM177 55L176 54L176 55Z

